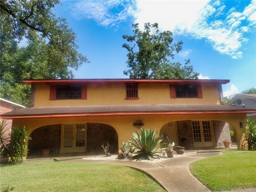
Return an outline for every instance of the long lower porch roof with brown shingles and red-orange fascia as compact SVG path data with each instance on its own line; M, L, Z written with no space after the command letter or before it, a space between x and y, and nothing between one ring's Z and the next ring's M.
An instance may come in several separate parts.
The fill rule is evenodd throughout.
M255 109L226 105L118 105L118 106L63 106L22 108L1 115L4 119L113 116L136 114L234 114L255 113Z

